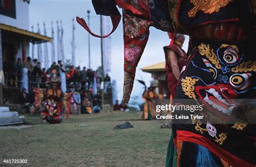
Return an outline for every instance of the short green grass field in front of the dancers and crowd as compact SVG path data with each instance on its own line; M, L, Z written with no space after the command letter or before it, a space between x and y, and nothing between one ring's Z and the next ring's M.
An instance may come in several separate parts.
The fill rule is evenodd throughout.
M4 159L28 159L27 166L164 166L171 130L141 114L71 115L56 125L26 115L33 126L0 129L0 166ZM113 129L125 121L134 127Z

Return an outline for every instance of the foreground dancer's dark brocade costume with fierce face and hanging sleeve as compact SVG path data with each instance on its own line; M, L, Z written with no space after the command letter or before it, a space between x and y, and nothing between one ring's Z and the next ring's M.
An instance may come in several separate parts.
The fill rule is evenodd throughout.
M255 166L255 122L243 120L228 124L228 120L238 105L230 99L256 97L256 1L102 0L97 3L93 1L98 14L111 16L113 31L120 20L116 4L123 9L123 103L130 99L149 27L190 35L190 54L180 75L176 98L204 104L209 112L206 120L173 125L174 146L171 140L166 166ZM77 21L88 30L83 19ZM219 124L207 120L210 114ZM242 114L251 114L250 118L255 119L255 107L242 110Z

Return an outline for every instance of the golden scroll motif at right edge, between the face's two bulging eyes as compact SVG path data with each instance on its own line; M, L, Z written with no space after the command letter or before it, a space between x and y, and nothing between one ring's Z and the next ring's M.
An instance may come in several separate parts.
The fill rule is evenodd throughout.
M232 72L256 72L256 61L247 61L238 64L236 67L231 69Z

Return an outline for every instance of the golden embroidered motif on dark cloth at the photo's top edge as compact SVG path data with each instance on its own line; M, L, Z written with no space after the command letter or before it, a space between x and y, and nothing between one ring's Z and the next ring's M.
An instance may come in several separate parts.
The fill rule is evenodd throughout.
M195 17L198 11L206 14L219 12L220 8L228 5L233 0L190 0L194 7L188 11L188 17Z

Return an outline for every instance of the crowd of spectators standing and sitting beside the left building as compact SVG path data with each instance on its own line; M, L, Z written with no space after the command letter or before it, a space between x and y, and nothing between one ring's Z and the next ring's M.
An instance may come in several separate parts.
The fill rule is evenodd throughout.
M12 70L9 70L10 68ZM24 62L18 58L14 64L5 64L6 85L21 90L19 100L29 107L33 103L31 100L33 98L29 98L31 90L26 93L28 91L21 88L24 68L28 69L29 89L47 88L49 75L55 73L60 78L60 75L64 74L66 90L72 92L72 104L79 106L78 110L81 113L98 113L102 110L101 91L97 91L102 82L102 75L99 70L86 69L86 67L80 69L79 66L64 66L62 61L53 62L50 68L42 69L41 62L38 62L37 59L31 60L31 57L27 57ZM104 92L107 92L111 88L111 79L108 74L106 74L104 82ZM30 109L32 110L32 108Z

